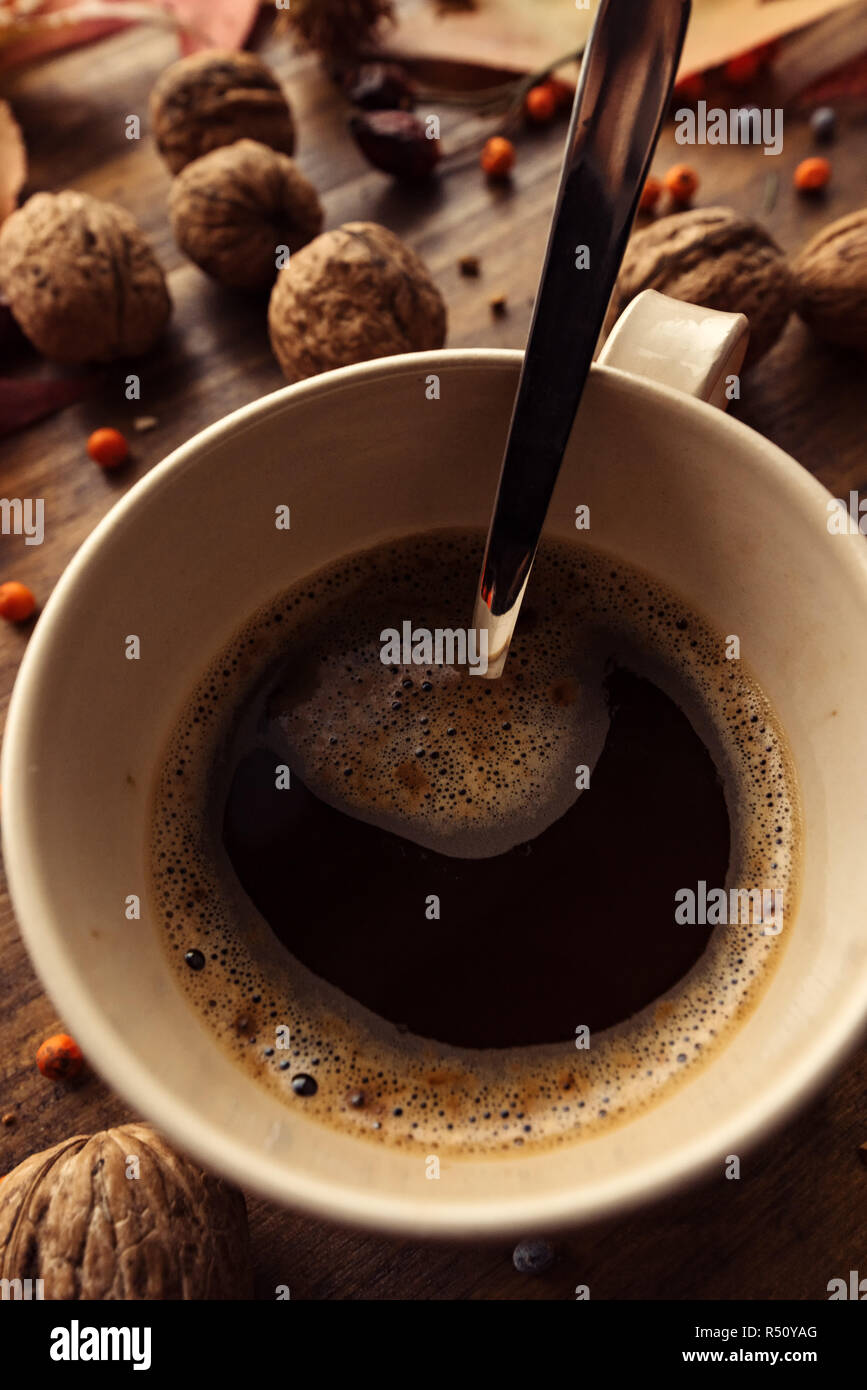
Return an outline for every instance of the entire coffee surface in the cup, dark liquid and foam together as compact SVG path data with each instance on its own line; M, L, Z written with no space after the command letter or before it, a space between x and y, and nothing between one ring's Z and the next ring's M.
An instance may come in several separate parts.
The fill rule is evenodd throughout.
M781 954L799 830L745 664L586 548L540 552L499 681L383 664L385 628L460 621L482 539L385 545L257 614L154 817L171 956L217 1037L324 1123L459 1152L567 1141L693 1073ZM773 887L785 929L682 924L699 885Z

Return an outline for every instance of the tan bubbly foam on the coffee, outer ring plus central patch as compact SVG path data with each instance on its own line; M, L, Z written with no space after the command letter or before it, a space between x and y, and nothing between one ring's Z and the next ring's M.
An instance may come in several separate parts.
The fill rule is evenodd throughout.
M153 815L154 916L185 994L217 1040L307 1118L370 1141L452 1156L572 1143L634 1118L695 1076L756 1004L785 949L800 844L791 758L745 663L727 660L724 639L677 596L589 548L549 542L540 549L499 682L434 667L431 676L417 667L406 676L378 670L381 628L399 626L400 617L424 626L425 613L442 623L442 610L432 613L436 596L442 602L449 592L460 602L472 592L482 542L481 532L435 532L383 545L318 571L257 613L190 696ZM545 596L545 612L534 613L534 592ZM392 620L371 621L372 613ZM591 759L586 748L575 752L582 706L570 696L589 688L588 671L599 670L600 653L650 676L686 709L725 787L732 830L727 887L781 890L786 917L779 937L763 935L753 923L717 927L684 980L632 1019L593 1034L589 1051L577 1051L574 1038L484 1051L420 1038L285 951L243 894L220 841L239 746L271 741L278 730L283 755L290 749L300 758L313 790L322 794L325 787L327 799L349 812L390 826L408 806L414 838L431 835L445 848L453 835L470 833L477 849L489 848L492 820L495 835L511 837L535 815L549 816L557 796L565 808L575 794L574 769ZM350 669L339 671L340 662ZM317 701L322 678L331 682L338 673L339 694ZM403 687L404 678L415 684ZM421 691L421 680L431 691ZM392 710L399 688L407 694L400 710ZM239 709L246 712L240 724ZM420 809L411 796L402 803L406 784L395 773L407 762L407 735L424 727L425 712L431 731L417 746L429 759L425 770L432 762L443 769L427 773L421 801L431 801ZM368 719L378 731L372 746L361 737ZM504 730L504 723L513 727ZM447 733L452 727L463 730L465 753L484 755L472 783L449 751L446 741L459 737ZM429 758L434 751L439 759ZM352 791L335 776L343 767L353 769ZM459 812L461 785L470 806ZM189 951L203 954L204 969L185 965ZM281 1049L276 1030L285 1026L290 1047ZM315 1095L293 1091L300 1073L315 1077Z

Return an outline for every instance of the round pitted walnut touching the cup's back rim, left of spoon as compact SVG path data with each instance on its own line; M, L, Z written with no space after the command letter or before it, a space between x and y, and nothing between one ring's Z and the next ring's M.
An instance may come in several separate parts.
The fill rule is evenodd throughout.
M268 306L288 381L442 348L446 306L422 260L377 222L346 222L293 256Z

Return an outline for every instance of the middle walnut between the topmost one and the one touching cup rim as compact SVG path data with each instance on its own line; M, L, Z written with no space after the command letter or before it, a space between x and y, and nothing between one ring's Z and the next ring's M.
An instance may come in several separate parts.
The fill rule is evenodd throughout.
M267 289L276 247L297 252L322 229L317 190L288 154L236 140L178 174L168 202L182 252L221 285Z

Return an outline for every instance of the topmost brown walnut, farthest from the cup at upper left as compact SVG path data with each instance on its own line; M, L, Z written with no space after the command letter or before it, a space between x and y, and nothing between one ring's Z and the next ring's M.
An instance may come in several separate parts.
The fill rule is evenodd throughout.
M150 93L150 122L172 174L242 139L295 153L289 103L271 68L251 53L208 49L172 63Z

